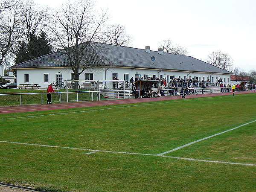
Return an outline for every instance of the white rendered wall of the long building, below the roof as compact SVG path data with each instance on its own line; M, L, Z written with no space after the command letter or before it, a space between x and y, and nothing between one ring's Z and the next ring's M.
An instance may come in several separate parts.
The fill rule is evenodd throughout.
M85 70L84 73L82 73L79 76L79 79L84 80L85 73L93 73L93 80L112 80L112 74L117 73L118 74L118 79L119 80L124 80L124 74L129 74L128 80L131 79L131 77L134 77L136 74L141 74L141 76L148 75L148 76L153 76L153 75L159 75L159 78L161 75L163 77L167 76L175 76L175 78L180 78L184 79L184 76L187 78L187 74L189 72L178 72L178 71L167 71L167 70L148 70L148 69L133 69L133 68L121 68L121 67L111 67L107 70L107 78L105 79L105 70L107 68L100 68L100 69L89 69ZM29 83L38 83L39 86L42 88L46 88L48 84L51 83L51 81L56 81L56 74L62 74L62 79L71 79L71 73L73 71L70 68L46 68L46 69L17 69L17 84L20 83L25 83L25 74L29 74ZM44 74L49 74L49 82L44 82ZM212 73L189 73L188 77L191 76L191 78L198 77L198 79L201 78L201 80L207 78L211 79L213 77L214 82L215 79L226 78L226 82L228 78L230 78L230 75L223 75L223 74L212 74ZM209 76L209 77L208 77Z

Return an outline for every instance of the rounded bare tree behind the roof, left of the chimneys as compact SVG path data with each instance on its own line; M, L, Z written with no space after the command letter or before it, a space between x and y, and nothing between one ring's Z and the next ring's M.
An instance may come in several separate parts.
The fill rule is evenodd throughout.
M113 24L105 29L99 41L111 45L127 46L131 41L131 37L127 35L125 26Z

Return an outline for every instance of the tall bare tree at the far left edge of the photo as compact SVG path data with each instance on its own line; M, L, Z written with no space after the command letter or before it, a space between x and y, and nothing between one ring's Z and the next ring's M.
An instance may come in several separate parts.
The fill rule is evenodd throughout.
M20 25L22 3L19 0L5 0L0 12L0 64L12 56L12 45L16 42Z

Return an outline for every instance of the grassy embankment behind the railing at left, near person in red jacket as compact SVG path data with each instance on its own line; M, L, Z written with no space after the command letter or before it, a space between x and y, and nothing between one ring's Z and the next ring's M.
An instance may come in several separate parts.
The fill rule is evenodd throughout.
M68 89L68 92L81 92L86 90L75 90ZM55 92L66 92L66 89L55 90ZM0 94L5 93L46 93L46 90L25 90L25 89L0 89ZM102 98L102 96L101 96ZM92 100L91 93L79 93L79 101ZM97 99L96 93L93 94L93 99ZM68 94L69 102L77 101L77 93ZM66 93L61 94L52 94L52 102L66 102L67 97ZM41 94L23 94L22 95L22 105L28 104L40 104L41 103ZM43 94L43 103L47 102L47 94ZM0 95L0 106L10 106L10 105L20 105L20 95Z

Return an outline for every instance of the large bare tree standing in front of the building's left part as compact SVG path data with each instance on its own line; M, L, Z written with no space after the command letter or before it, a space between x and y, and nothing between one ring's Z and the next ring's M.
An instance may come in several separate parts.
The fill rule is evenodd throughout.
M102 63L89 63L92 55L88 55L90 41L107 19L106 12L96 15L94 4L90 0L67 2L53 15L52 33L59 48L68 57L68 65L74 73L74 79L89 67Z

